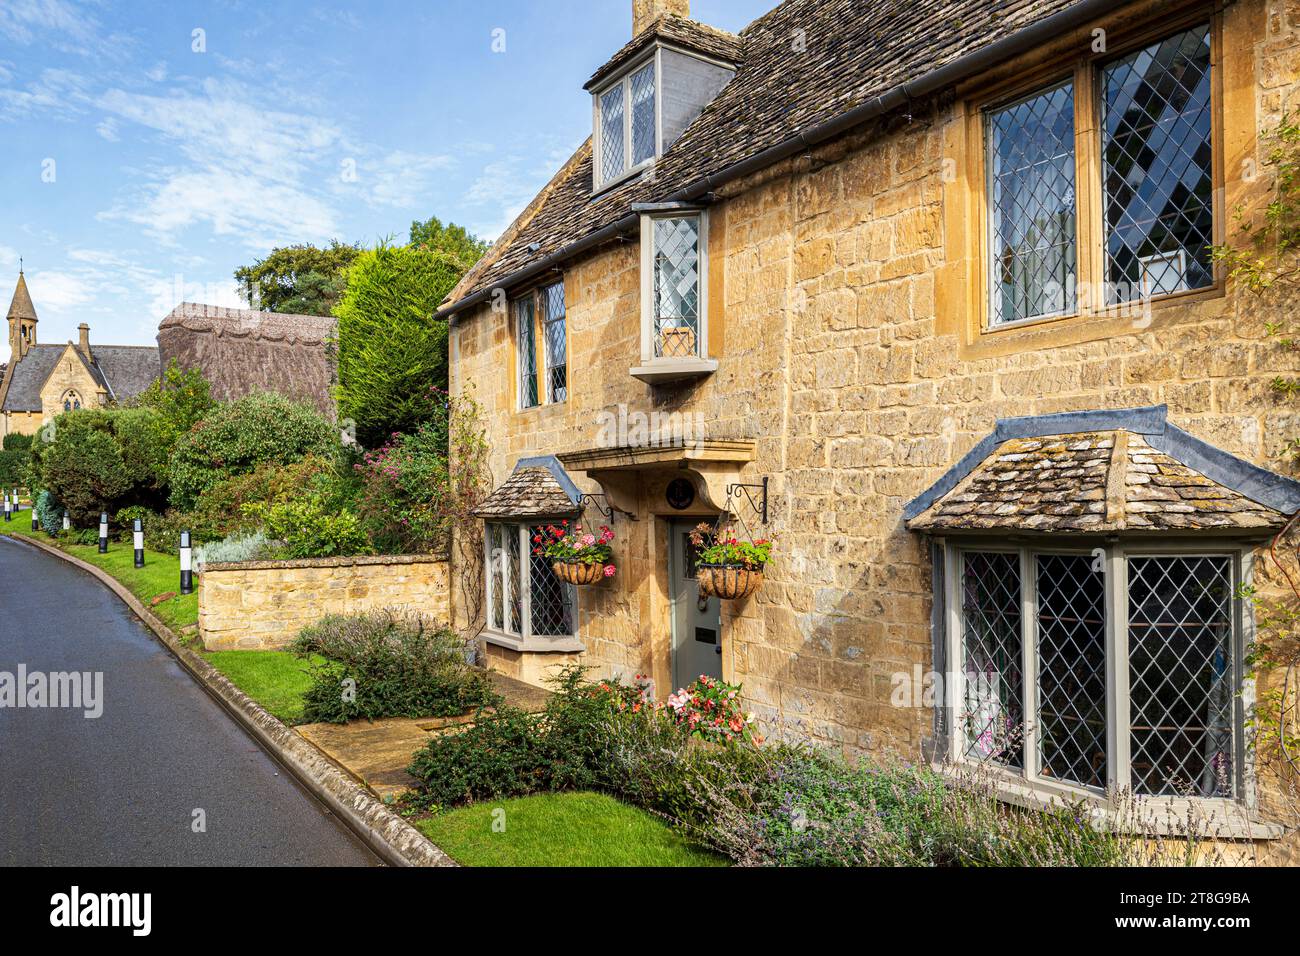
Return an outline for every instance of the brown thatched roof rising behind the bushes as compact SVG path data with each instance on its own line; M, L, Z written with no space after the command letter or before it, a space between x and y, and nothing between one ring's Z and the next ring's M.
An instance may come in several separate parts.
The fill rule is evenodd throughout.
M182 302L159 325L162 367L198 367L218 401L278 392L334 416L326 339L334 320Z

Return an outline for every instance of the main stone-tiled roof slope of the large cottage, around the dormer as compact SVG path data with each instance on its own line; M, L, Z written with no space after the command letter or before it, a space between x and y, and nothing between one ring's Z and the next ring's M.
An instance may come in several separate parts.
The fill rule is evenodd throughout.
M633 203L680 198L681 190L706 176L1071 5L1071 0L785 0L740 33L734 78L655 163L653 176L593 196L589 138L564 174L543 190L542 202L520 215L447 300L491 289L614 225ZM803 49L794 36L803 38Z

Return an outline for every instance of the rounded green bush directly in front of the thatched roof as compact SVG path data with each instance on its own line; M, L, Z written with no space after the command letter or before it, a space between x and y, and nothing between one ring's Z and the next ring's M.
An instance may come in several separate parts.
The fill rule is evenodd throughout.
M333 457L334 427L311 406L256 393L220 405L177 441L172 454L172 505L192 509L199 496L260 464L292 464L308 455Z

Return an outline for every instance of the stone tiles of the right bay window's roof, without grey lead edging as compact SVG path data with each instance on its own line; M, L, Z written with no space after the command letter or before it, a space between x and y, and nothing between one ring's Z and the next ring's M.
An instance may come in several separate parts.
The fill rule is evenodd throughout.
M1271 531L1286 515L1126 429L1011 438L907 522L913 531Z

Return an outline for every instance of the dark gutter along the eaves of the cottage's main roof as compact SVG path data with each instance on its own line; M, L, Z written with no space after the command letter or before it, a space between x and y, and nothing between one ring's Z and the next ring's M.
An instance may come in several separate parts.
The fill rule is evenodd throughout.
M879 116L884 116L885 113L898 109L913 100L923 99L930 94L953 86L962 79L967 79L968 77L988 69L989 66L994 66L1014 56L1028 52L1036 46L1058 39L1062 34L1070 33L1088 21L1112 13L1121 7L1128 7L1131 3L1132 0L1080 0L1080 3L1076 3L1072 7L1057 10L1052 16L1035 21L1009 36L994 40L987 47L982 47L972 53L959 56L952 62L939 66L930 73L924 73L906 83L900 83L887 92L875 96L866 103L859 103L853 109L840 113L831 120L826 120L816 126L796 133L793 137L783 139L776 146L771 146L762 152L740 160L738 163L733 163L716 173L710 173L708 176L696 179L689 186L666 196L662 202L675 203L698 200L701 196L716 191L724 183L740 179L750 173L758 172L759 169L764 169L766 166L775 165L781 160L803 152L809 147L823 143L827 139L832 139L854 126L859 126L861 124L875 120ZM491 298L497 289L508 289L511 286L520 285L521 282L526 282L534 276L538 276L549 269L554 269L560 263L585 252L593 246L599 246L604 242L630 233L638 225L638 213L633 212L623 216L610 225L602 226L597 232L585 235L577 242L571 242L568 246L558 248L550 255L538 259L536 263L510 273L499 282L494 282L485 289L480 289L478 291L467 295L450 306L443 306L433 313L433 319L450 319L458 312L463 312L464 310L472 308L473 306Z

